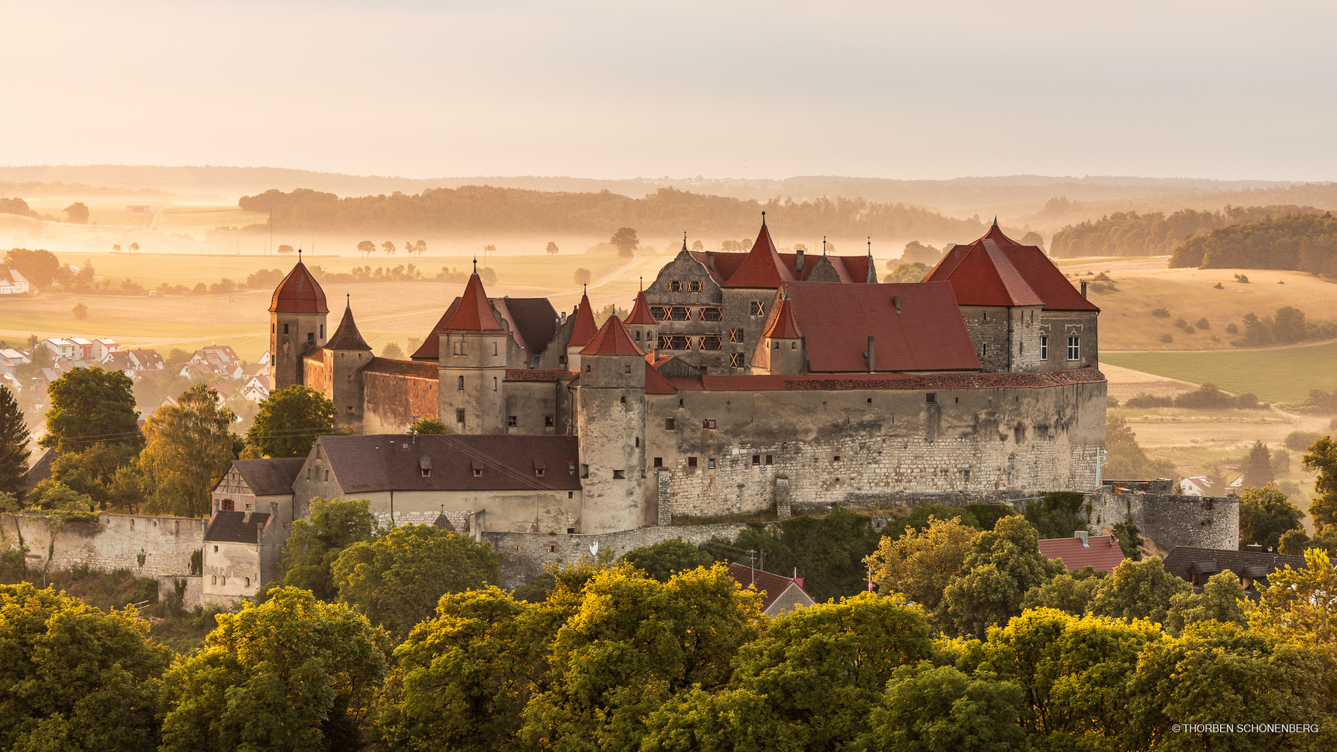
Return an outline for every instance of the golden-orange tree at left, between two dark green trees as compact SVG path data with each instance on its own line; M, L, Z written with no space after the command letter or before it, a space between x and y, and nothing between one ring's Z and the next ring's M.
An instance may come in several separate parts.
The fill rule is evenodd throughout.
M150 514L202 516L211 508L209 491L235 459L235 415L218 405L218 392L195 384L175 405L155 409L144 423L148 442L139 454Z

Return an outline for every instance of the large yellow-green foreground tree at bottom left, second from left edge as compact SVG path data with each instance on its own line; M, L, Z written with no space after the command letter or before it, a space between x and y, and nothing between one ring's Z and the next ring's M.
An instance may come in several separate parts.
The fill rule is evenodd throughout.
M384 632L295 587L217 618L205 648L163 678L163 752L364 747Z

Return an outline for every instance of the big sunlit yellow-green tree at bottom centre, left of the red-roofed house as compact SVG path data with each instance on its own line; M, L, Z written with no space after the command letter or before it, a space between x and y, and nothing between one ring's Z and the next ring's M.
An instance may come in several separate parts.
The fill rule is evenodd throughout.
M626 563L595 573L579 612L558 630L551 688L525 705L520 739L558 749L635 748L646 717L668 697L725 686L738 649L757 636L758 598L719 565L668 582Z

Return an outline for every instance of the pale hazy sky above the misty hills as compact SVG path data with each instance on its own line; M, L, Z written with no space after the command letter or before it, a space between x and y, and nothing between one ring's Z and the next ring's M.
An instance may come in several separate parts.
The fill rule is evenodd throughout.
M0 0L0 163L1334 179L1334 28L1280 0Z

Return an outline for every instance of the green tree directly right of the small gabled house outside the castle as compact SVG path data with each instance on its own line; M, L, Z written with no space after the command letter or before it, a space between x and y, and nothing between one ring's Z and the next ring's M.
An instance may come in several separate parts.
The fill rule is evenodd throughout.
M293 521L278 562L279 577L269 589L301 587L322 601L338 598L334 562L345 549L370 541L376 533L376 516L366 499L312 499L310 515Z

